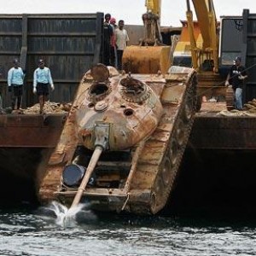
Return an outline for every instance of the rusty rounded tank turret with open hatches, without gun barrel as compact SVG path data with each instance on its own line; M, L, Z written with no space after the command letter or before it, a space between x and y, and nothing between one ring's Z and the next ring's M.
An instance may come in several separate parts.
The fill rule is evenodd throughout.
M84 147L95 148L98 132L106 137L108 150L131 148L152 134L163 113L154 90L131 74L110 81L108 68L103 65L94 67L90 74L92 84L76 113Z

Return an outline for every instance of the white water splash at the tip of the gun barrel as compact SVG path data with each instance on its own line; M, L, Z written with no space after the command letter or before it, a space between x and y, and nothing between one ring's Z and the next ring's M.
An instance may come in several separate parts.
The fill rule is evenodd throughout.
M96 215L88 210L89 204L79 204L76 207L67 208L58 201L52 201L47 207L41 207L41 215L55 218L55 224L63 228L74 227L79 223L96 220Z

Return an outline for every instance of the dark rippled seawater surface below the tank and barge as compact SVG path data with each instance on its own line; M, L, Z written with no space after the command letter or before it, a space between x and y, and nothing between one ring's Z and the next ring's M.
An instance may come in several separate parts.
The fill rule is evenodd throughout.
M83 207L0 210L0 255L256 255L256 222L195 217L96 216Z

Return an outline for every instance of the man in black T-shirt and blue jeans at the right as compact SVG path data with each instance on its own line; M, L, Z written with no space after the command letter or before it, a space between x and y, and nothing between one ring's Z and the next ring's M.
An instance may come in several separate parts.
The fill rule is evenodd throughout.
M230 68L225 85L232 84L235 92L235 108L238 110L242 110L242 87L246 78L247 72L245 67L241 65L241 57L236 57L235 65Z

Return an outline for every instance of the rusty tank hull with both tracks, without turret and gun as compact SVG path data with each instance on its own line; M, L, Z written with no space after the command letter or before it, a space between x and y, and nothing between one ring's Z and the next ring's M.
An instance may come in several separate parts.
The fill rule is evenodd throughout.
M105 150L102 153L96 163L95 176L91 176L95 179L95 183L89 184L84 189L82 200L89 200L91 207L101 211L108 209L116 212L155 214L166 206L189 139L195 117L196 76L193 69L184 67L172 67L165 78L160 74L131 76L147 84L148 88L159 97L163 113L159 116L158 125L151 134L147 133L147 136L134 146L129 145L126 149L122 147L118 150L117 148L111 150L110 146L110 151ZM110 84L114 87L117 81L119 83L119 80L125 78L127 78L125 74L113 77L110 79ZM83 106L84 100L81 95L86 98L86 90L90 92L93 83L88 77L82 79L73 106ZM113 93L116 94L116 90ZM105 101L109 101L108 98L109 96ZM118 96L114 98L117 99ZM102 101L102 98L100 99ZM125 99L130 100L127 97ZM148 103L151 105L152 102L150 103L149 100ZM85 105L91 106L88 103ZM129 106L129 101L122 105ZM139 106L144 108L141 102ZM46 168L46 176L38 191L38 197L43 203L59 200L70 205L78 189L68 188L60 183L62 172L68 164L86 167L92 156L92 148L84 147L88 145L86 137L83 143L77 133L77 109L73 108L69 113L61 139ZM90 117L92 116L93 114L90 113ZM109 119L107 111L97 116L104 121ZM120 121L120 124L122 123ZM85 131L88 134L90 130Z

